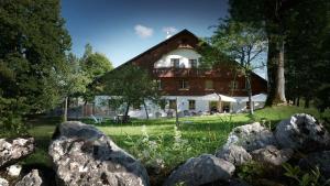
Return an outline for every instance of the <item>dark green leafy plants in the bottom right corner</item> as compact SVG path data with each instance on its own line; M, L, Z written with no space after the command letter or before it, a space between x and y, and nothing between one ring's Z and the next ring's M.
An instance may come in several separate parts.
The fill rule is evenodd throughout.
M292 166L284 163L283 168L286 171L285 176L293 178L299 186L326 186L330 185L330 179L321 180L321 173L319 168L311 169L310 173L302 172L299 166Z

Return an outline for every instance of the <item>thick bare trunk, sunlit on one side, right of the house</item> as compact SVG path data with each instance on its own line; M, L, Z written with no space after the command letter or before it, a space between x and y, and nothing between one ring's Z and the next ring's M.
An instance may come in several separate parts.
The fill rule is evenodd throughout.
M268 97L266 106L286 103L284 77L284 40L268 37Z

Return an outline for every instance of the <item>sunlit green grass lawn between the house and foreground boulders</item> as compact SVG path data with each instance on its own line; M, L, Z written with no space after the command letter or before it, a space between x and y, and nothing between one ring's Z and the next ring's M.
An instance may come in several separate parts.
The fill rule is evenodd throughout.
M116 124L108 121L98 124L97 128L109 135L119 146L135 157L141 157L139 153L143 151L143 145L141 147L141 139L144 136L142 130L143 125L145 125L144 129L148 134L148 140L155 141L158 144L155 151L161 151L148 152L150 155L161 154L164 156L164 160L166 160L165 164L167 168L170 169L179 163L185 162L188 157L197 156L202 153L213 154L218 147L226 143L229 132L234 127L265 120L266 125L274 128L278 121L298 112L311 113L319 117L316 109L286 106L257 110L253 118L246 113L180 118L180 139L185 140L185 144L183 149L176 150L168 147L175 143L175 133L177 132L174 130L175 119L132 120L130 123L124 124ZM328 110L326 114L330 116L330 111ZM90 120L84 121L91 123ZM30 155L24 161L24 164L37 163L44 166L51 166L47 147L57 123L59 123L59 119L56 118L38 118L30 121L32 128L29 130L29 133L36 140L36 152Z

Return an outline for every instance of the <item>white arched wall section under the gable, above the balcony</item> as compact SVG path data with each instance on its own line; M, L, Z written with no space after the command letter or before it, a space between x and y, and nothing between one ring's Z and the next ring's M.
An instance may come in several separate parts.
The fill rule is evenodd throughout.
M189 59L197 59L197 64L198 64L199 57L201 57L201 55L199 55L194 50L178 48L169 52L168 54L163 55L161 59L155 62L154 67L155 68L170 67L170 58L179 58L180 67L185 66L186 68L190 68Z

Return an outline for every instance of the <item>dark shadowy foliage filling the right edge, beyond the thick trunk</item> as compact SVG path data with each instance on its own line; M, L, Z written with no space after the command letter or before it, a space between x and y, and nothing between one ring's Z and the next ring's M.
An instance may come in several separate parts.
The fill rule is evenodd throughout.
M330 84L329 10L329 1L306 0L287 13L287 95L292 100L304 97L305 107Z

